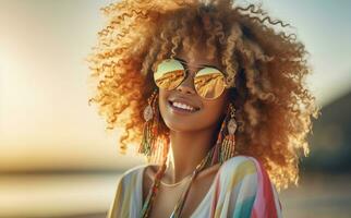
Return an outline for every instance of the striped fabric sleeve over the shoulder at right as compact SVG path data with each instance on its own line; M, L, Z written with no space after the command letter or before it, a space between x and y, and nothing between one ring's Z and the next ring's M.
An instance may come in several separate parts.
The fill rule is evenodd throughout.
M215 218L281 218L278 193L266 170L250 156L235 157L223 169ZM222 190L225 189L225 190Z

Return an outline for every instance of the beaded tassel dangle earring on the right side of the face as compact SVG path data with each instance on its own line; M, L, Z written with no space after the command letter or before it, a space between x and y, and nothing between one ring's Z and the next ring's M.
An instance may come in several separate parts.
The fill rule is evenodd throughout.
M228 107L227 116L221 123L220 131L218 133L218 138L216 142L216 148L211 165L216 161L223 164L227 159L231 158L235 154L235 131L237 121L234 119L235 108L232 104Z

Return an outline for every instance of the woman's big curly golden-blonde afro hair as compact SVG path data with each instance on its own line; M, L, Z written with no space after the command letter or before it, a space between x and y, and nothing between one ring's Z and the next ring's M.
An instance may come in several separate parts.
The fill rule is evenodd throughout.
M283 31L289 24L232 0L122 0L101 10L108 23L87 59L96 82L89 104L98 106L107 129L121 128L122 154L142 140L156 64L180 48L191 55L204 45L235 80L235 149L261 160L278 190L298 185L299 157L308 155L306 136L318 107L305 87L308 53Z

